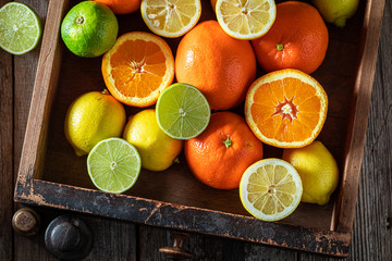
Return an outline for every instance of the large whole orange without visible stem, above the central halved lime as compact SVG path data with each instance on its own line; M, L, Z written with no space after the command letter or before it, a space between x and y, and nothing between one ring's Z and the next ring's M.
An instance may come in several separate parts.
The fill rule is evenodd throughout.
M179 83L197 87L211 109L226 110L244 101L256 63L249 41L230 37L217 21L206 21L180 41L175 76Z

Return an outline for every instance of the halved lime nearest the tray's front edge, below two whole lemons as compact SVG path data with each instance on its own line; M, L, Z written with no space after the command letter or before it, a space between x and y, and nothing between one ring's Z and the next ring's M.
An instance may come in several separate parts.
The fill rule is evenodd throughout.
M94 185L106 192L121 194L130 189L140 167L139 153L121 138L101 140L87 158L87 171Z

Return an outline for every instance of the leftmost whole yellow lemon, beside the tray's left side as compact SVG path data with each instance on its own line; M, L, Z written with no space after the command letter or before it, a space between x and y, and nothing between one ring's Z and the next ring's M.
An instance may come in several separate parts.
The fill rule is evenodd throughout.
M99 141L120 137L125 121L122 103L107 91L90 91L70 105L64 123L65 137L75 153L84 156Z

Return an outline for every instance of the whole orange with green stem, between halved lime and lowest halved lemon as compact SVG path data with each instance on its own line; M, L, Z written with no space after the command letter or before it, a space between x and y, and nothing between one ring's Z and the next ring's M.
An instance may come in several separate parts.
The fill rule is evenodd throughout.
M206 130L185 141L184 151L197 179L213 188L233 189L245 170L262 159L262 142L244 117L224 111L212 114Z

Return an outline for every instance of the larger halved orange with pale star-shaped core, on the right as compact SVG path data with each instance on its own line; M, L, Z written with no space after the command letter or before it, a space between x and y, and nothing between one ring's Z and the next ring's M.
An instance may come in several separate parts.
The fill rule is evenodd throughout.
M279 148L301 148L320 133L328 97L310 75L293 69L256 79L245 100L245 117L254 134Z

